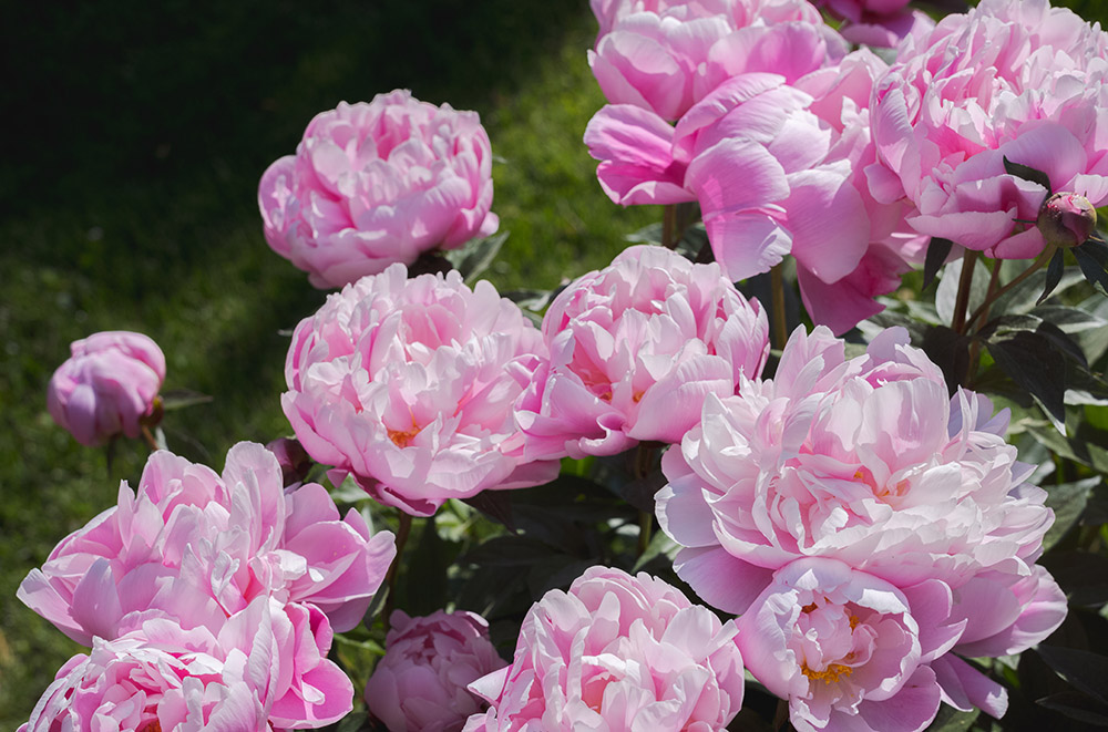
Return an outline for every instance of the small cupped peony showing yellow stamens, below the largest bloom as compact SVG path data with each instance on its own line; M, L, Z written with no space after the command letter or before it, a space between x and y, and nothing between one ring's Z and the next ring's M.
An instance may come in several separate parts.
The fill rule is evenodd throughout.
M942 600L934 585L921 599ZM798 559L736 621L738 642L755 678L789 701L797 730L917 732L942 698L925 661L962 630L934 626L927 604L919 605L920 618L886 581L834 559Z

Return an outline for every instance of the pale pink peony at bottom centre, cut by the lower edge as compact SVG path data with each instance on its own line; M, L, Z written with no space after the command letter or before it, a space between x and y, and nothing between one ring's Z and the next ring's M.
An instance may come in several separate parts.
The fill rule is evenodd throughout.
M523 621L515 660L471 684L465 732L721 730L742 702L733 621L645 573L592 567Z

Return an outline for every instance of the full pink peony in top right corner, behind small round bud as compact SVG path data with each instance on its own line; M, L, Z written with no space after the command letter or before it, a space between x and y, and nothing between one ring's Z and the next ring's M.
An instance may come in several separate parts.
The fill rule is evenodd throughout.
M1108 200L1108 34L1047 0L984 0L905 39L874 93L874 195L906 196L919 231L988 256L1037 256L1047 189Z

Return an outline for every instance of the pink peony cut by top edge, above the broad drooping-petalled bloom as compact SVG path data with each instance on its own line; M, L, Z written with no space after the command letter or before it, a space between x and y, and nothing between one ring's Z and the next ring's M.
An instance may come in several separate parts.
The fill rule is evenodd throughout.
M612 104L680 118L727 79L776 71L793 81L833 64L842 38L804 0L594 0L588 65ZM793 47L800 44L801 49Z

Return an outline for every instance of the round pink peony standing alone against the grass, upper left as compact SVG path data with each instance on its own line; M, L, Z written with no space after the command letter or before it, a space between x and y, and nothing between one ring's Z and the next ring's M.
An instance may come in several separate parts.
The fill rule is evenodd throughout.
M379 94L318 114L258 187L266 240L319 288L489 236L492 152L475 112Z

